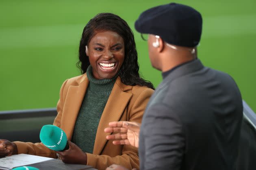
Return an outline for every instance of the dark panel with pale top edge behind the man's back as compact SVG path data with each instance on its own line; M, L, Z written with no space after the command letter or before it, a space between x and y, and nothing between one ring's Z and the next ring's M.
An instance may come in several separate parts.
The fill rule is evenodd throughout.
M237 170L256 170L256 114L245 101Z

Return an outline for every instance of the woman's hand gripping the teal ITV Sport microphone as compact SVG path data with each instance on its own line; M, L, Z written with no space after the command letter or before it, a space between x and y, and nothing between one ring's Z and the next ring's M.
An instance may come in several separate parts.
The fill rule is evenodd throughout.
M56 151L60 155L61 160L67 164L87 164L87 155L76 144L67 141L69 149L65 151Z

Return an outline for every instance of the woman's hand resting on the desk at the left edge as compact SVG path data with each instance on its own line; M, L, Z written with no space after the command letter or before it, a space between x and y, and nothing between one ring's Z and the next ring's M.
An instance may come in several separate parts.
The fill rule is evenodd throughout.
M0 139L0 156L11 156L15 154L18 154L16 144L9 140Z

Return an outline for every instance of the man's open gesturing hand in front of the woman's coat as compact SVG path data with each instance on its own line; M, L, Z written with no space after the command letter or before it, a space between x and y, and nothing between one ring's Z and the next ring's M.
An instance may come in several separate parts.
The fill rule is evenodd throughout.
M113 144L130 144L139 147L140 123L130 121L113 121L108 123L109 127L104 129L106 133L119 132L106 136L108 140L114 140Z

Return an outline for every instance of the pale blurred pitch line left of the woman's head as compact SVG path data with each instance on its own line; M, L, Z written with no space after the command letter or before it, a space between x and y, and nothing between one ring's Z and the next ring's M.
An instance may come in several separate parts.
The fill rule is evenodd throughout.
M0 29L0 49L79 45L85 25Z

